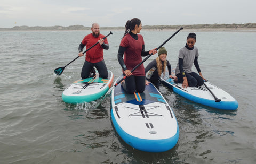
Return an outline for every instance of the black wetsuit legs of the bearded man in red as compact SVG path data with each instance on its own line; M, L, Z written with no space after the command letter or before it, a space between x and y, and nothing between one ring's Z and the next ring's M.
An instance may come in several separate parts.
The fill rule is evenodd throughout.
M90 72L92 70L93 67L96 67L96 69L98 70L101 78L103 79L107 79L108 78L108 69L107 69L107 66L103 61L100 61L98 63L90 63L90 62L87 62L85 61L84 62L84 65L83 65L83 68L82 68L82 72L81 72L81 77L82 79L86 79L89 77L90 75Z

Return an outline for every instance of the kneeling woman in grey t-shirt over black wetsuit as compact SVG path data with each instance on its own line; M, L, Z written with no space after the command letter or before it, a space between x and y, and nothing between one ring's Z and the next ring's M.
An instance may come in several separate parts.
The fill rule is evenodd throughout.
M198 64L198 49L195 47L196 34L189 33L185 47L179 51L179 62L177 64L175 74L178 82L182 83L183 88L196 87L204 84L204 77ZM192 71L193 63L199 75Z

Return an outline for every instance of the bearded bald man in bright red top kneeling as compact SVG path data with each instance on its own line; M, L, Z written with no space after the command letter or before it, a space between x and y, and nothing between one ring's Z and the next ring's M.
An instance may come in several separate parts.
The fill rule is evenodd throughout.
M105 36L103 34L100 34L100 25L98 23L93 23L91 30L92 30L92 33L85 36L81 44L79 45L78 55L79 56L84 55L82 51L85 46L86 46L86 49L89 49L95 43L99 42L99 44L95 45L93 48L91 48L89 51L86 52L85 62L82 68L81 77L82 79L86 79L91 74L93 73L95 74L94 67L96 67L96 69L99 72L99 77L102 77L103 79L107 79L108 70L103 58L103 49L109 49L108 40L107 38L102 39Z

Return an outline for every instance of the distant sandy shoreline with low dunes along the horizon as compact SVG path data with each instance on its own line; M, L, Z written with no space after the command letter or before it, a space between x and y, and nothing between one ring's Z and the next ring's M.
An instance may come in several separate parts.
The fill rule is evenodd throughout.
M230 31L230 32L256 32L256 23L245 24L193 24L193 25L143 25L142 31L176 31L180 27L184 29L182 31ZM91 27L84 27L83 25L70 25L63 27L60 25L55 26L34 26L29 27L27 25L14 26L12 28L0 28L0 31L87 31L91 30ZM113 31L125 31L125 27L100 27L100 30L113 30Z

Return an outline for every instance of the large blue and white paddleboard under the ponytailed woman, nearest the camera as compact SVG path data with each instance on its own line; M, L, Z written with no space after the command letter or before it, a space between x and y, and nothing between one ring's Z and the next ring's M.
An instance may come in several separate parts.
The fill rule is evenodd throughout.
M151 83L143 93L134 94L117 85L111 92L111 120L119 136L141 151L164 152L172 149L179 139L177 119Z

